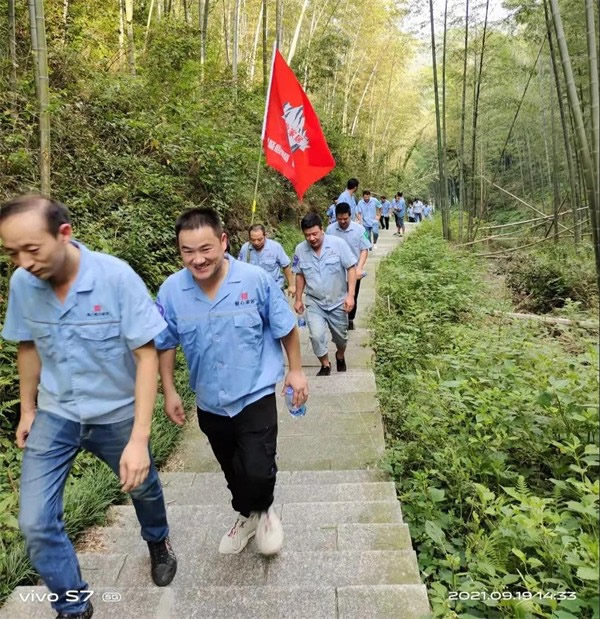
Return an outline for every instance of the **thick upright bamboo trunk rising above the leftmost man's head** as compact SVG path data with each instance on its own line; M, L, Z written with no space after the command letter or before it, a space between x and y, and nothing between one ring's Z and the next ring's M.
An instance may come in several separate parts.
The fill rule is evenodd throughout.
M46 20L44 1L35 0L36 40L32 45L37 50L39 83L40 127L40 188L45 196L50 195L50 89L48 84L48 49L46 47Z

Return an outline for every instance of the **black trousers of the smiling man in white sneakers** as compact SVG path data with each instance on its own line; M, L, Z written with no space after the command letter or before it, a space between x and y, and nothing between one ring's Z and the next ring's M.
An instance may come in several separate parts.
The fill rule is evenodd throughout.
M198 423L223 469L233 509L246 517L267 511L277 476L275 394L249 404L235 417L198 408Z

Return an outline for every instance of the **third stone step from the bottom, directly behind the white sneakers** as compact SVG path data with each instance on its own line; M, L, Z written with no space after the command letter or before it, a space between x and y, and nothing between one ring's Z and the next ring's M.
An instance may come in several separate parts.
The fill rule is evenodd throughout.
M189 549L198 552L213 552L218 548L221 537L233 524L229 522L203 523L197 527L187 523L183 527L171 527L169 537L176 553ZM370 523L338 525L296 525L285 524L285 543L282 552L306 552L316 550L411 550L408 526L403 523ZM146 543L139 533L129 527L104 527L98 530L103 551L109 554L133 553L145 556ZM205 550L201 550L201 548ZM186 550L187 552L187 550ZM254 541L245 552L257 553Z

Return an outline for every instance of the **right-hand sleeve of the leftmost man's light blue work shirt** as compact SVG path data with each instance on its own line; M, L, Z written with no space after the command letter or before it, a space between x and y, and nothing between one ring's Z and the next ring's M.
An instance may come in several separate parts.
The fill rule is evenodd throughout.
M130 350L152 341L167 325L142 278L131 268L121 274L121 333Z

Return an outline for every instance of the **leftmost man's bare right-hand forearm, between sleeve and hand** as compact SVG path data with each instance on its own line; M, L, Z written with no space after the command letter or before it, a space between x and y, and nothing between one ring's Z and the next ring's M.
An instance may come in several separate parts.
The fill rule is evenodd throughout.
M131 439L150 440L152 414L158 387L158 356L153 344L146 344L134 351L137 361L135 374L135 413Z

